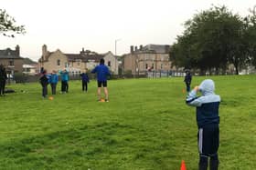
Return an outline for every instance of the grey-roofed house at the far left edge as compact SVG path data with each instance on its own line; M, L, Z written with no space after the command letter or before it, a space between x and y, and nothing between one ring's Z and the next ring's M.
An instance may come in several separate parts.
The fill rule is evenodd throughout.
M8 75L15 73L22 73L24 58L20 56L19 45L16 45L16 49L6 48L0 50L0 65L5 66L5 70Z

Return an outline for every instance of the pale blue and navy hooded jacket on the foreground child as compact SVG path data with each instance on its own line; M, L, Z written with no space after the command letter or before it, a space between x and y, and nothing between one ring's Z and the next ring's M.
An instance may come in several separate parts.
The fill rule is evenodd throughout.
M220 96L214 93L215 85L210 79L204 80L199 85L201 96L197 97L197 92L192 90L187 95L187 105L197 107L197 126L219 124L219 103Z

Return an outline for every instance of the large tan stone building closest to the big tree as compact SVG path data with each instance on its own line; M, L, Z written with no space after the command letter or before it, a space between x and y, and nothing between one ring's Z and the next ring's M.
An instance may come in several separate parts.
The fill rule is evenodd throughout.
M144 75L148 71L166 72L171 68L169 60L170 45L133 45L129 54L123 56L124 72L132 71L133 75Z

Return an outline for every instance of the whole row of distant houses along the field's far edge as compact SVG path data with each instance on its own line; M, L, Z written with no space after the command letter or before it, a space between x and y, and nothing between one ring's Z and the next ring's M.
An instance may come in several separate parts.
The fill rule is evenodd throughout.
M130 46L130 53L122 56L113 55L111 51L99 54L90 50L82 50L77 54L63 53L59 49L48 51L48 46L42 46L42 55L38 62L34 62L27 57L20 55L20 47L16 49L6 48L0 50L0 64L5 65L8 74L24 73L36 75L40 69L59 71L69 68L70 74L80 74L85 68L91 70L99 65L101 58L104 58L105 65L109 67L112 74L118 75L120 72L131 72L132 75L144 75L147 71L168 71L171 68L169 60L169 45L140 45Z

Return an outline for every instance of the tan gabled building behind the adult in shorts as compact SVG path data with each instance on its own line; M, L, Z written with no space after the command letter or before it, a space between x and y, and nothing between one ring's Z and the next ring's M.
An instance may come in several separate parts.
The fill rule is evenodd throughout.
M52 70L63 70L69 68L69 73L76 75L85 71L93 69L99 65L101 58L105 59L105 64L109 66L110 70L115 74L118 73L118 62L112 52L106 54L98 54L90 50L82 50L79 54L64 54L59 49L55 52L48 52L47 45L42 46L42 56L38 60L40 67L52 72Z

